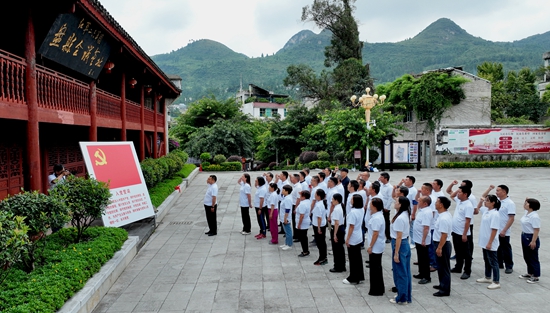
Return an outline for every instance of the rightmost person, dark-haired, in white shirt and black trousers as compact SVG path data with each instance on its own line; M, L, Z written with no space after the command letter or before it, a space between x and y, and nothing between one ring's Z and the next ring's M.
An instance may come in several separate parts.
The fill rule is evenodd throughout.
M527 279L530 284L536 284L540 277L540 217L537 212L540 209L540 202L537 199L526 198L523 208L525 215L521 218L521 249L527 264L527 274L519 277Z

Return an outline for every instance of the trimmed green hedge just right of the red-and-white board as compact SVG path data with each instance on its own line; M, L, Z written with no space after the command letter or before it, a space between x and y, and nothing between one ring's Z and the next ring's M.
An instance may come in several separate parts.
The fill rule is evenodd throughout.
M187 153L176 150L158 159L141 161L141 171L147 188L152 188L161 181L174 177L183 168L188 157Z

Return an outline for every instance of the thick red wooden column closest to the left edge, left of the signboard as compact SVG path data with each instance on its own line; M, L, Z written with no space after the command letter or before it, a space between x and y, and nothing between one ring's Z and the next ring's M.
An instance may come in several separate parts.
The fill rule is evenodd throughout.
M34 38L34 23L32 10L29 7L27 17L27 32L25 34L25 94L29 112L27 121L27 155L29 170L29 186L31 190L43 192L42 168L40 166L40 130L38 123L38 94L36 82L36 47Z

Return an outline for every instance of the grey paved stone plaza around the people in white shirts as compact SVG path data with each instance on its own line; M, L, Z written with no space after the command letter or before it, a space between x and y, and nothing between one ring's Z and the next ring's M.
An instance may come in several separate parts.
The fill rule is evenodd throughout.
M483 276L481 248L477 245L480 217L475 217L474 262L472 277L460 280L452 274L450 297L436 298L432 284L418 285L413 279L413 303L391 304L394 296L368 295L368 280L362 285L344 285L346 273L330 273L329 265L314 266L318 256L298 258L299 248L281 251L268 240L243 236L238 209L241 175L238 172L214 173L220 186L218 236L204 235L206 220L202 199L208 174L200 173L166 215L162 224L126 268L94 312L544 312L547 310L550 280L546 265L550 261L550 170L533 169L466 169L394 171L390 182L406 175L417 178L416 186L440 178L445 184L470 179L474 195L479 198L489 184L505 183L516 203L518 217L512 227L514 273L501 271L499 290L488 290L487 284L476 283ZM252 177L258 173L252 172ZM350 173L355 178L357 173ZM373 173L371 181L377 179ZM542 208L540 258L542 277L539 284L527 284L518 275L526 272L520 245L519 218L523 215L525 197L539 199ZM454 211L454 204L451 212ZM257 223L252 221L253 233ZM256 226L256 227L255 227ZM269 237L268 237L269 238ZM282 240L280 238L282 244ZM366 252L363 251L363 256ZM393 286L390 245L383 255L386 290ZM416 260L413 250L412 259ZM453 262L452 262L453 263ZM367 270L368 271L368 270ZM416 266L412 268L416 273ZM365 272L368 279L368 272ZM437 273L432 273L437 283Z

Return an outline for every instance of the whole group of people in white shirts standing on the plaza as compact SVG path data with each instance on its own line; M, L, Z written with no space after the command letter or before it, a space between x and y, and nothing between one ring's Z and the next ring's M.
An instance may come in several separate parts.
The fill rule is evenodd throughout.
M339 174L339 175L337 175ZM349 275L344 284L361 284L365 280L361 249L368 254L369 295L380 296L385 292L382 254L386 244L391 243L393 283L395 298L390 302L407 304L412 301L412 280L419 284L431 283L431 272L437 271L438 283L434 296L449 296L451 273L460 273L460 279L471 275L474 243L473 217L481 214L479 246L482 249L485 272L478 283L488 283L488 289L500 288L500 269L513 273L511 226L515 221L516 206L508 196L506 185L490 185L476 201L470 180L452 181L442 191L443 182L435 179L423 183L420 189L414 186L414 176L407 176L398 184L390 184L390 175L380 173L377 181L370 182L370 173L361 172L356 180L350 180L348 170L332 171L326 168L317 175L309 169L297 174L286 171L274 176L268 172L254 180L256 191L252 196L251 178L244 173L240 185L239 205L243 229L241 234L251 234L250 209L257 217L258 240L267 238L277 245L279 234L284 234L282 250L290 250L294 242L300 242L298 257L310 255L308 230L313 230L314 242L319 257L314 265L328 263L326 233L330 234L333 267L330 272L345 272L347 248ZM208 178L209 188L205 196L207 220L214 212L217 195L216 178ZM459 185L456 190L454 187ZM495 190L495 194L490 194ZM449 197L448 197L449 196ZM452 199L452 200L451 200ZM456 202L454 214L449 208ZM537 211L540 202L527 198L521 218L521 243L527 273L520 275L528 283L537 283L540 277L539 231L540 217ZM393 217L391 217L393 209ZM391 217L391 218L390 218ZM210 217L211 218L211 217ZM215 217L214 217L215 219ZM279 231L278 225L282 227ZM209 235L216 234L215 224L209 222ZM213 230L214 228L214 230ZM452 256L452 250L455 255ZM412 274L411 251L416 249L418 274ZM451 268L451 260L456 259Z

